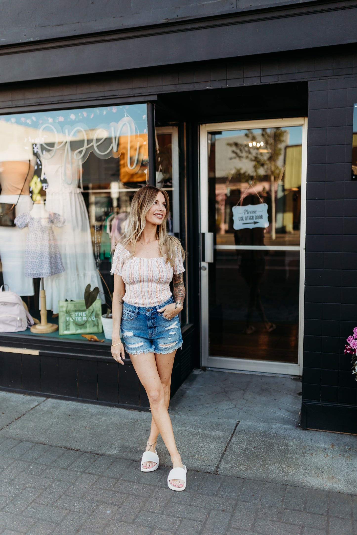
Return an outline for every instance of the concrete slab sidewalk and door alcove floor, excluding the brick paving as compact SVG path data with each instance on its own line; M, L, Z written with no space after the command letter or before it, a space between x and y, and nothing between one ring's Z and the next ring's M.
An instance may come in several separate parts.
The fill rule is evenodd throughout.
M192 373L170 404L187 468L355 493L356 437L302 431L300 388L299 381L282 377ZM4 392L1 397L2 438L127 460L139 460L146 445L148 412ZM161 464L169 466L160 439L157 447Z

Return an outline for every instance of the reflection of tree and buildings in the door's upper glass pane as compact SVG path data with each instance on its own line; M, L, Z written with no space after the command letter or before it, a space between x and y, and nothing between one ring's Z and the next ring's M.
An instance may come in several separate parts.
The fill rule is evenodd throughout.
M289 235L296 234L299 240L302 148L298 128L301 134L301 127L209 134L209 180L215 177L218 234L233 232L232 207L258 194L268 204L270 239L291 240ZM289 144L292 140L295 143Z

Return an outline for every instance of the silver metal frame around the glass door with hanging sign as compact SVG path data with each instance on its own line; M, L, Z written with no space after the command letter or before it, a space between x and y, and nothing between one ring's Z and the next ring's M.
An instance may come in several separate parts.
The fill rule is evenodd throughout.
M298 364L274 361L259 361L245 358L209 356L209 310L208 310L208 267L201 261L201 365L209 368L237 371L275 373L283 375L302 375L303 351L303 312L305 290L305 240L306 240L306 169L307 169L307 117L290 119L268 119L254 121L233 121L231 123L211 123L200 125L200 232L208 228L208 132L227 130L246 130L253 128L277 128L302 126L301 161L301 214L300 214L300 289L299 289L299 345ZM203 269L202 269L203 268Z

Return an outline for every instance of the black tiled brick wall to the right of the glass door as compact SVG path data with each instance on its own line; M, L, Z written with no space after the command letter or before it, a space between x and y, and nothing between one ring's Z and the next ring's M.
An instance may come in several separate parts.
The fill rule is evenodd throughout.
M309 82L303 399L357 404L357 182L351 180L357 78Z

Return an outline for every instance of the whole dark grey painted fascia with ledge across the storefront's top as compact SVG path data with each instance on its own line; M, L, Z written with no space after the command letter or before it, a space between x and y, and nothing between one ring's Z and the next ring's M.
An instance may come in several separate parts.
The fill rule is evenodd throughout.
M245 0L231 0L228 10L226 0L205 4L183 0L179 7L138 0L121 2L112 10L112 2L93 0L90 5L72 2L69 9L61 10L68 2L62 0L49 11L42 4L36 10L36 0L30 13L23 2L17 9L16 2L1 3L0 83L93 73L101 83L108 72L146 67L162 72L178 63L254 55L260 59L267 53L311 51L357 41L357 0L272 4L250 0L248 5ZM90 18L102 5L97 18ZM161 18L164 12L166 17ZM126 22L130 28L124 29Z

